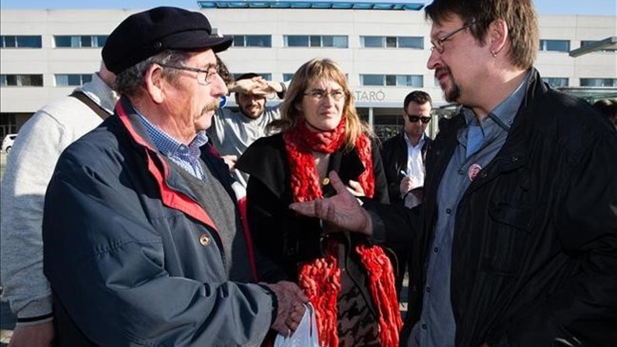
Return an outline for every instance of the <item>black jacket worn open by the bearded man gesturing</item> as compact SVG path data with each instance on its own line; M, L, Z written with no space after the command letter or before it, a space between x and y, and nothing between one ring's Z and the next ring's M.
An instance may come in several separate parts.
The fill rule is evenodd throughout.
M457 115L433 141L420 209L370 207L390 238L421 214L403 343L420 317L437 188L464 126ZM617 136L587 102L550 90L534 70L505 144L456 216L456 346L617 345Z

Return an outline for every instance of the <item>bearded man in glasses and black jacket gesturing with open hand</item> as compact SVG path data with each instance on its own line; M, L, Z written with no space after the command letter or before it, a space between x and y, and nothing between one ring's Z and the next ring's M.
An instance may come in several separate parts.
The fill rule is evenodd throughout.
M387 243L415 232L404 346L615 346L615 129L542 83L531 0L434 0L426 18L428 68L462 110L426 154L421 208L340 189L292 209Z

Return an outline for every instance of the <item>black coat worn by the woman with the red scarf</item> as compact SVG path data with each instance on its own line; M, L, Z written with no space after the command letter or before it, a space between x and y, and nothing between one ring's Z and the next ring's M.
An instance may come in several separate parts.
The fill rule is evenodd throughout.
M387 203L386 179L381 157L373 146L374 200ZM317 218L301 217L289 209L293 202L289 183L289 161L281 134L260 138L242 154L236 167L251 175L247 186L247 215L255 246L284 269L285 279L297 278L299 261L323 256L323 234ZM336 151L329 159L328 172L334 170L342 182L356 180L364 166L355 150ZM324 195L334 194L332 185ZM352 243L370 242L365 236L350 235ZM273 274L268 280L280 280Z

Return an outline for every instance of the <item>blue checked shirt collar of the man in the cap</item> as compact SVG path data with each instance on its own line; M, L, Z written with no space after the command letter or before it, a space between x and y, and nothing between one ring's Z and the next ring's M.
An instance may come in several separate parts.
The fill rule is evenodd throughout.
M175 140L172 136L167 135L163 130L155 127L155 125L148 122L146 117L139 112L137 112L137 114L139 114L141 123L146 127L148 135L150 135L154 146L159 149L160 153L180 165L180 167L189 174L200 180L205 180L204 168L199 161L199 156L201 154L199 148L208 142L208 135L206 135L205 130L197 132L193 141L187 146Z

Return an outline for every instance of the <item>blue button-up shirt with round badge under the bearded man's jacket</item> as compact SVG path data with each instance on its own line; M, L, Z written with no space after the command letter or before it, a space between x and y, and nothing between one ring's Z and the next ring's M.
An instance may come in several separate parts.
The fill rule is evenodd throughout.
M458 146L437 188L437 223L426 262L422 312L408 340L410 347L454 346L457 327L450 303L450 270L458 203L475 177L474 173L486 167L505 143L523 101L528 79L529 73L482 123L471 109L462 109L466 127L458 131Z

